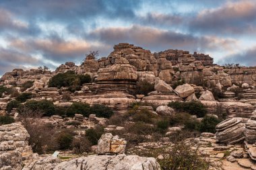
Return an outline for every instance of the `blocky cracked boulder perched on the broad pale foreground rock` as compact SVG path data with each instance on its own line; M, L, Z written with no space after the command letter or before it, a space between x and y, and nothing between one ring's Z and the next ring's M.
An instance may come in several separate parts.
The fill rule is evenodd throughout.
M98 140L97 153L99 155L125 153L126 144L126 140L119 136L113 136L110 133L102 134Z

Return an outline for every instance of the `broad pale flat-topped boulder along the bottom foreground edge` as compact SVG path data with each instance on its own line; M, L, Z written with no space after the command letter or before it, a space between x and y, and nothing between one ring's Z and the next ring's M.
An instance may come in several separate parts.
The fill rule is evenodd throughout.
M28 167L34 170L160 170L160 165L156 159L139 157L137 155L90 155L88 157L72 159L71 161L59 162L59 160L53 157L46 157L35 161ZM23 170L28 170L28 168Z

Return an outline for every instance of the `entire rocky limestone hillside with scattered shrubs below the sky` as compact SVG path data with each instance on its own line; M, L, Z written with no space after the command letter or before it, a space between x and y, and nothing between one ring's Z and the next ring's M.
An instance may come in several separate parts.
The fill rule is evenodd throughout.
M14 69L1 77L0 169L21 169L32 161L26 168L71 169L78 163L96 169L95 161L106 160L113 161L113 169L133 161L171 169L177 162L164 155L181 149L194 154L199 169L255 169L256 67L218 66L209 55L183 50L153 54L127 43L115 45L107 57L97 60L96 54L86 55L79 66ZM57 150L62 157L71 155L68 159L95 154L108 132L127 140L128 156L102 151L63 163L45 159ZM120 149L118 141L113 143Z

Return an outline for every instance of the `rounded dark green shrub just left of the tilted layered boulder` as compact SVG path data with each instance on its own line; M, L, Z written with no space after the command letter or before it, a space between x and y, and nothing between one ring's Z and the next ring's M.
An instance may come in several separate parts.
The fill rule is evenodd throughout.
M220 123L220 120L214 116L205 116L200 124L200 132L210 132L215 133L216 125Z

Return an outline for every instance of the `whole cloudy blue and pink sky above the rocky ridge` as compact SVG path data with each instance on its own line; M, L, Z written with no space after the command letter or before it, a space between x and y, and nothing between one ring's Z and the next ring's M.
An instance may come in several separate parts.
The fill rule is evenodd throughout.
M79 65L90 50L108 56L120 42L255 66L255 34L255 0L1 0L0 76Z

